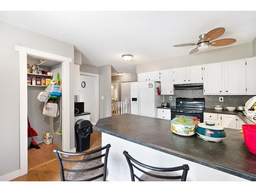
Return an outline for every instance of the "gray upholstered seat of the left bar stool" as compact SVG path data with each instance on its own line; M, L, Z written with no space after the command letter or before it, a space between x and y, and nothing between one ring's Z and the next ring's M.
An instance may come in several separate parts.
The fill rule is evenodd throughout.
M72 169L86 169L95 167L98 165L102 165L103 163L99 160L93 160L89 162L82 162L78 163L75 166L72 167ZM90 179L92 177L96 177L104 172L104 167L100 167L94 170L91 170L90 172L68 172L65 176L65 179L68 180L83 180L83 179ZM106 170L106 176L108 176L108 170ZM103 177L100 177L98 179L95 179L93 181L103 181Z

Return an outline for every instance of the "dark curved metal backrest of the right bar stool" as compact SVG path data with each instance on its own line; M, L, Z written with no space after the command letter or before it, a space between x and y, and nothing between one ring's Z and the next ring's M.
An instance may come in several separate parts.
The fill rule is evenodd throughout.
M138 179L139 181L143 181L141 178L139 178L137 175L134 174L134 168L136 168L137 170L139 170L143 174L148 175L148 176L153 177L153 178L167 179L167 180L180 179L181 181L186 181L187 172L189 170L189 166L187 164L184 164L182 166L167 167L167 168L154 167L154 166L146 165L144 163L139 162L138 160L136 160L132 156L130 156L128 154L128 152L126 152L126 151L123 152L123 155L125 156L126 161L129 165L132 181L135 181L135 178ZM152 174L150 172L147 172L146 170L143 170L142 168L138 167L137 165L139 165L140 167L143 167L145 169L150 169L150 170L154 170L154 171L157 171L157 172L176 172L176 171L179 171L179 170L183 170L183 172L182 172L182 175L178 175L178 176L156 175L156 174Z

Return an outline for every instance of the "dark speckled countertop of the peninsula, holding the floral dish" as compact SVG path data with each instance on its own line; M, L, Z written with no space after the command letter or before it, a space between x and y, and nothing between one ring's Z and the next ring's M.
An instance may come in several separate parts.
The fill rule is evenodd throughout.
M176 135L169 127L169 120L123 114L99 119L94 129L256 181L256 155L247 150L238 130L225 129L227 138L223 142L215 143L199 139L196 135L191 137Z

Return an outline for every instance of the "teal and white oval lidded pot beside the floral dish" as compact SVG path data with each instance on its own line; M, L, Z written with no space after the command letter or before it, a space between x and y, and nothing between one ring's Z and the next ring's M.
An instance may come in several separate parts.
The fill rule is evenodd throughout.
M224 127L215 125L215 123L199 123L197 136L206 141L221 142L226 138L226 133Z

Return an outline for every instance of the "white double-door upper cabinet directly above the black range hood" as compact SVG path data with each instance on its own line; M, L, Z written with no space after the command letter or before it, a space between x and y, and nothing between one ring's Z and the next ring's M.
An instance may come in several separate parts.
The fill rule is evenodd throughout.
M174 71L174 84L200 83L202 82L202 66L190 66L176 68Z

